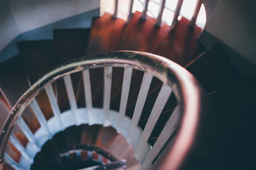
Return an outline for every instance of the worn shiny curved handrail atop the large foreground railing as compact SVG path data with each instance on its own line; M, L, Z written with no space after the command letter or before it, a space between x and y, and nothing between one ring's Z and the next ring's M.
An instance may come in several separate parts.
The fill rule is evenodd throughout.
M173 148L168 150L169 155L175 155L172 157L174 161L172 169L177 169L193 147L193 137L197 135L198 122L202 111L204 111L204 101L202 101L202 98L205 97L205 94L195 80L195 77L182 68L182 66L161 56L146 52L132 51L107 52L75 59L54 68L33 84L33 86L19 98L1 129L1 161L3 162L6 143L15 122L31 100L33 100L42 89L64 75L102 66L129 66L137 70L149 72L164 83L172 86L175 97L179 101L180 114L182 114L180 128L177 132L177 137L175 137Z

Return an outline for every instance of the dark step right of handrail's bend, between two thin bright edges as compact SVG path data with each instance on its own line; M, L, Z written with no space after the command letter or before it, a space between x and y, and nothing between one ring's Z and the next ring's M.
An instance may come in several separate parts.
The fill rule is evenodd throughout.
M205 51L186 66L208 92L241 81L242 76L220 44Z

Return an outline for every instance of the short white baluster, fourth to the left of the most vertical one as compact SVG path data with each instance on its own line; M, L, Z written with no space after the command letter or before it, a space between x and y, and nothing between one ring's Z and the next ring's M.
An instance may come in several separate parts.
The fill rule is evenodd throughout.
M38 103L36 102L35 99L33 99L30 103L30 107L32 109L32 111L34 112L38 122L40 123L41 127L44 129L45 134L48 137L52 137L52 132L48 126L47 120L44 117L44 114L42 113Z

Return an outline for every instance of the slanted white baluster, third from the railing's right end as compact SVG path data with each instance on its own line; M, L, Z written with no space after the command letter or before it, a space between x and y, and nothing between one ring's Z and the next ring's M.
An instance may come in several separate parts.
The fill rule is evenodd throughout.
M140 92L136 101L134 113L132 116L132 121L131 121L131 128L129 130L129 135L128 135L128 140L129 143L133 141L133 132L134 130L138 127L138 123L140 120L141 112L143 110L143 107L145 105L147 95L148 95L148 90L150 88L150 84L152 81L153 75L150 73L144 73L143 80L141 82L141 87L140 87Z

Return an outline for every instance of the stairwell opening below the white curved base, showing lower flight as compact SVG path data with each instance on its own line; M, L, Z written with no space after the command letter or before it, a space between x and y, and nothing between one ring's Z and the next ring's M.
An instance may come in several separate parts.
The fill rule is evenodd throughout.
M126 169L140 168L134 149L115 128L83 124L55 134L35 155L31 169L84 169L115 158L125 160Z

